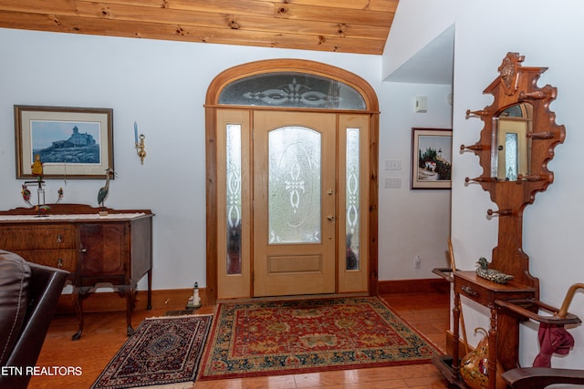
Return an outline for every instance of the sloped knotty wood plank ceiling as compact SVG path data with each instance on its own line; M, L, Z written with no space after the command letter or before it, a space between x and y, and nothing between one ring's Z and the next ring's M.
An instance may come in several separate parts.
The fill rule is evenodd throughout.
M381 55L399 0L0 0L0 27Z

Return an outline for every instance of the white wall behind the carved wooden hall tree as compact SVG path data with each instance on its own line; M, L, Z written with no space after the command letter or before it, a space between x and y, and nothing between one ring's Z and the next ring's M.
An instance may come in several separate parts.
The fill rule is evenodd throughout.
M401 2L408 4L410 2ZM533 205L524 212L523 247L530 257L530 271L541 283L541 300L559 306L569 285L584 282L584 261L579 242L584 217L584 172L578 169L584 131L581 130L581 91L584 77L580 71L584 53L576 44L584 35L581 24L584 4L569 0L552 3L544 0L481 0L469 4L440 2L444 9L458 6L455 15L432 15L424 6L432 1L412 1L408 13L396 15L400 20L422 20L433 16L455 22L454 44L454 146L474 144L483 128L477 118L465 119L466 109L481 109L492 102L482 91L495 77L496 68L509 51L526 56L524 66L548 67L538 85L558 87L558 98L551 104L557 123L566 126L566 142L556 148L556 156L548 167L555 181L546 192L538 193ZM403 8L406 9L406 8ZM502 12L504 11L504 12ZM454 16L454 17L453 17ZM412 36L419 26L401 25L398 35ZM391 53L385 53L391 56ZM485 210L493 208L488 193L477 185L464 186L465 177L480 175L478 159L473 153L454 155L452 190L452 235L457 265L474 269L480 256L490 258L496 245L497 221L486 220ZM584 295L580 291L570 305L570 312L584 317ZM488 312L475 304L464 305L464 319L470 342L475 327L488 327ZM567 357L554 357L554 367L579 367L584 358L584 327L569 328L576 340ZM538 352L537 324L522 325L520 358L531 365Z

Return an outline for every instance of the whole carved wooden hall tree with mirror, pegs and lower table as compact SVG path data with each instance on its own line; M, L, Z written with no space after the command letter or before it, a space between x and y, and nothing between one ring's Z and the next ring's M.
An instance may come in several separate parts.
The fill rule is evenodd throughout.
M497 373L500 375L519 363L520 322L527 317L537 318L539 308L544 305L539 302L539 279L530 274L529 258L522 247L523 210L534 202L537 192L546 190L553 182L554 174L547 169L547 164L553 159L556 146L564 142L566 130L556 124L556 116L549 109L557 97L557 88L537 86L537 79L547 68L522 67L524 59L517 53L507 53L504 57L497 68L499 76L484 91L493 95L493 103L466 112L467 118L480 118L484 122L480 138L474 145L461 146L461 153L474 152L483 168L480 176L466 178L466 184L480 185L496 205L495 209L485 210L485 217L498 220L497 245L488 269L513 279L497 283L479 277L475 270L453 269L452 275L434 271L442 272L444 278L454 282L452 356L437 358L434 364L451 384L459 387L467 387L459 364L464 356L459 353L463 298L485 306L490 312L490 389L499 387L493 378ZM489 258L487 253L484 256ZM520 309L516 309L516 302L521 302ZM568 319L579 322L573 315L568 315Z

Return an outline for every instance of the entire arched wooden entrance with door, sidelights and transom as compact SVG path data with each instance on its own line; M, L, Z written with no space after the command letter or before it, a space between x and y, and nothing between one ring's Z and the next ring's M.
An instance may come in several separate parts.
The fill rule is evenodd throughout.
M377 293L377 98L310 61L207 92L207 298Z

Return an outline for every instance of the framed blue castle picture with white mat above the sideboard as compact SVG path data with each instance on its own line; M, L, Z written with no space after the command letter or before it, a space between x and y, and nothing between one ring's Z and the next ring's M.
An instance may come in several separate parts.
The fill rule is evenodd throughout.
M16 179L103 179L113 169L113 110L15 106Z

